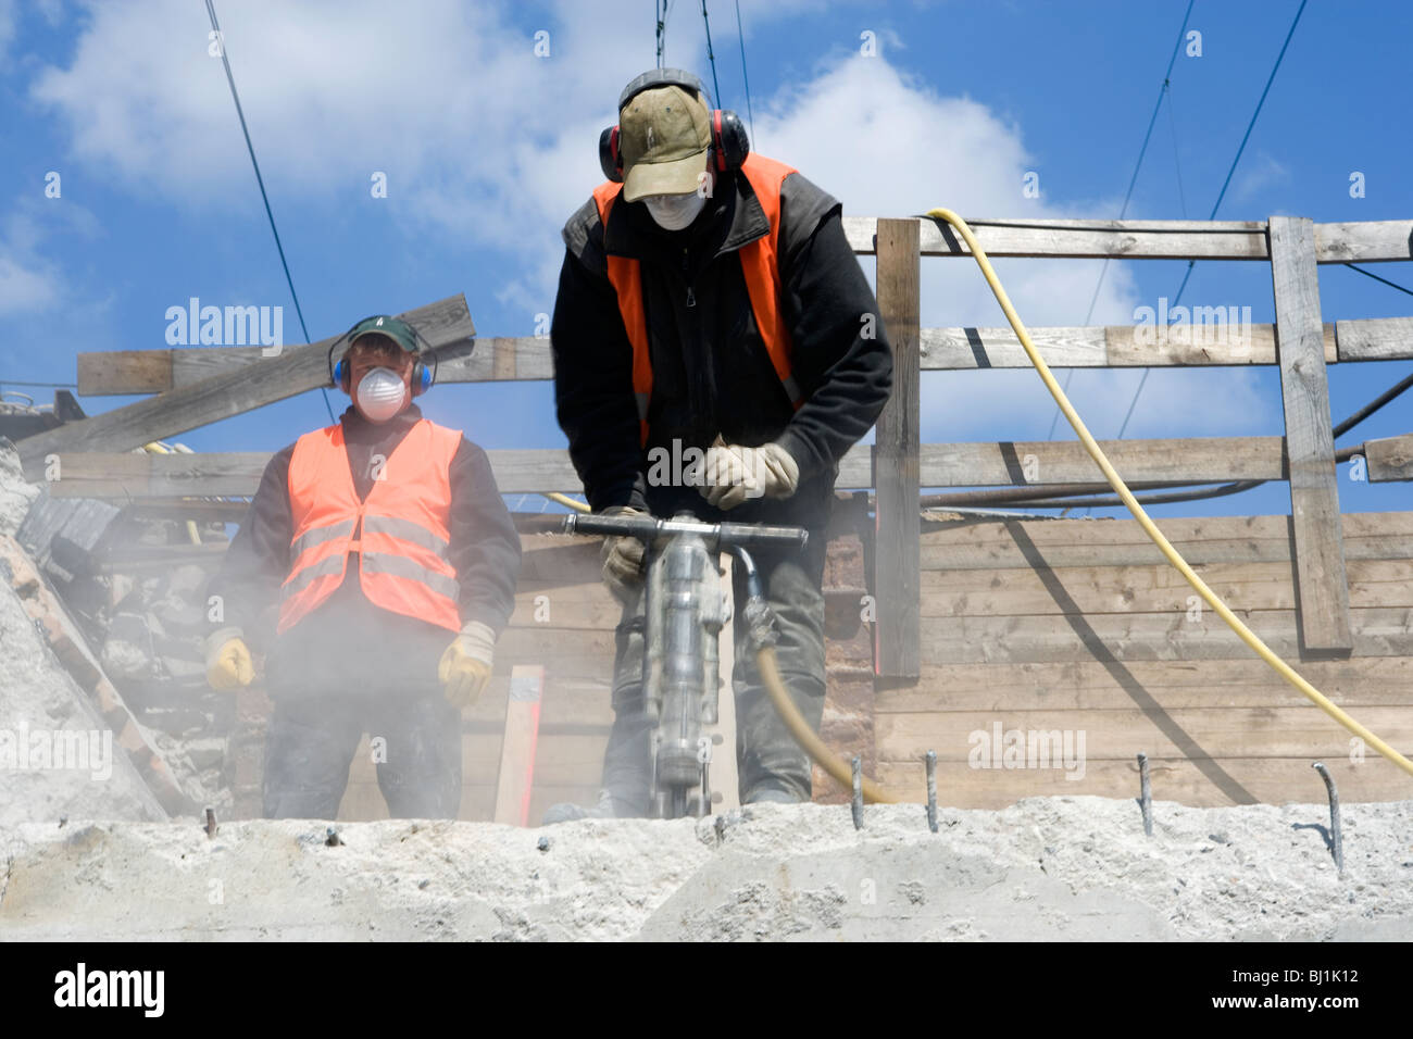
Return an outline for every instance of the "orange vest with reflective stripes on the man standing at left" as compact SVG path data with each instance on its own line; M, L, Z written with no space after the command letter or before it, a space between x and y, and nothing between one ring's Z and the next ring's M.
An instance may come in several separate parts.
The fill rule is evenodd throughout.
M359 500L343 425L307 433L290 458L290 575L280 588L283 635L343 584L349 553L374 606L461 630L451 544L451 461L461 433L420 420Z

